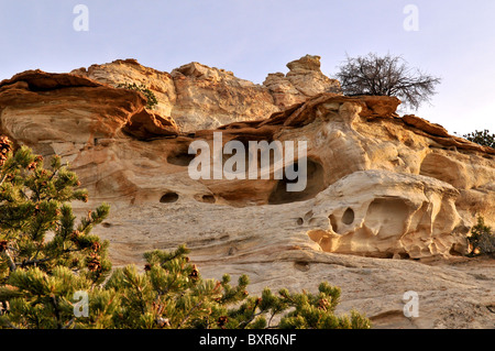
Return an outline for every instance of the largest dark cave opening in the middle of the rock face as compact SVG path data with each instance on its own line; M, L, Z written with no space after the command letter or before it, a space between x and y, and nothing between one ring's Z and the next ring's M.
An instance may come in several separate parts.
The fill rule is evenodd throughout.
M268 197L268 205L280 205L296 201L305 201L314 198L318 193L324 190L324 172L323 166L311 160L304 158L307 164L306 188L301 191L288 191L287 184L297 183L299 179L289 180L284 172L283 179L278 180L272 194ZM294 164L294 171L298 172L298 162Z

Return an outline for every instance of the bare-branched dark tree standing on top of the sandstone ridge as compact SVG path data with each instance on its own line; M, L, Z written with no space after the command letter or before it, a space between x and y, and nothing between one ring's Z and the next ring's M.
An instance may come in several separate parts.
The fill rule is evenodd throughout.
M348 96L395 96L415 110L430 100L436 94L435 86L441 81L438 77L409 68L400 56L387 54L382 57L374 53L355 58L348 56L337 78Z

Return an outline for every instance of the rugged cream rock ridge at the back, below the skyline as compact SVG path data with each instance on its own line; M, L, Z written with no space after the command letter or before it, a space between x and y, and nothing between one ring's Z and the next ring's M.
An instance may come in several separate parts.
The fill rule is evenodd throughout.
M215 129L233 121L268 118L285 107L320 92L340 94L340 85L320 70L320 57L307 55L287 65L280 79L255 85L232 72L190 63L170 73L142 66L135 59L118 59L72 72L117 87L144 85L157 98L153 112L173 120L183 132ZM288 88L284 88L287 86ZM153 138L153 136L152 136Z

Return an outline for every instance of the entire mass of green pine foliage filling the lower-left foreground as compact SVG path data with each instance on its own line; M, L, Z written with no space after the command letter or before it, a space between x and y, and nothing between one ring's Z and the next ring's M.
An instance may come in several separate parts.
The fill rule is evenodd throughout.
M227 274L204 279L185 245L146 252L142 270L129 265L110 274L108 242L90 234L109 207L103 204L76 227L68 202L88 199L79 185L59 157L45 169L31 150L13 153L0 139L0 327L370 328L356 311L334 315L338 287L321 283L317 295L265 288L261 297L250 296L246 275L235 286Z

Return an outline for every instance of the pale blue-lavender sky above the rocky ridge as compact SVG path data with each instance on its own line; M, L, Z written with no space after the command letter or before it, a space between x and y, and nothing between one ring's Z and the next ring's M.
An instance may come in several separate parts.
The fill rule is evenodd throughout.
M88 31L76 31L77 4ZM406 6L418 10L417 31ZM0 80L118 58L170 72L190 62L261 84L306 54L332 76L345 55L391 53L440 76L414 112L464 134L495 132L494 0L0 0Z

